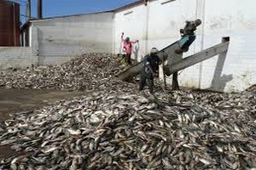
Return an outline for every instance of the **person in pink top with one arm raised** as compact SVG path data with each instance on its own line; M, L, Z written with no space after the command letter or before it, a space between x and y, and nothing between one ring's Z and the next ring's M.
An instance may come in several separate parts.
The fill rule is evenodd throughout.
M123 42L123 47L124 47L124 50L125 50L125 62L126 62L126 64L131 65L132 44L137 43L138 40L135 41L135 42L132 42L132 41L130 41L130 37L126 37L124 39L124 32L122 32L121 40Z

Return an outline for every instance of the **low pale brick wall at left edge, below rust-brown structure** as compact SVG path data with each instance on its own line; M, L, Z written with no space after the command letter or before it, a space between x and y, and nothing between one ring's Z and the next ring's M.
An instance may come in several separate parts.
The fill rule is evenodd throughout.
M0 47L0 69L30 67L31 54L31 48Z

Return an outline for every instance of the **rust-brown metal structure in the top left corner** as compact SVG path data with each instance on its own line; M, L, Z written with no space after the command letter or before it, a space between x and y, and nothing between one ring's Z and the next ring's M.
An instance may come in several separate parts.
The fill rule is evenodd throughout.
M0 0L0 46L20 46L20 5Z

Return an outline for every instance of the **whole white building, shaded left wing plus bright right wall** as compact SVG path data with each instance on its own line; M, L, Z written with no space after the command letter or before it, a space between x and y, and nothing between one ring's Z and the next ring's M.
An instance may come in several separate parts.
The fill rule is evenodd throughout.
M230 48L225 58L216 56L180 71L180 85L241 91L256 83L255 6L255 0L149 0L102 13L31 20L32 63L56 64L90 52L118 54L123 31L131 40L139 40L132 57L140 60L150 48L177 41L185 21L199 18L203 24L184 57L219 43L222 37L230 37Z

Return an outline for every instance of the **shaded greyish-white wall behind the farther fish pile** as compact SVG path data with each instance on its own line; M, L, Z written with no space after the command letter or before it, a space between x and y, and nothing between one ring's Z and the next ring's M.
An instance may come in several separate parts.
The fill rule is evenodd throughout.
M61 64L86 53L113 52L113 13L32 21L32 55L38 65Z

